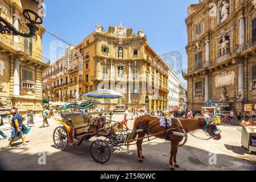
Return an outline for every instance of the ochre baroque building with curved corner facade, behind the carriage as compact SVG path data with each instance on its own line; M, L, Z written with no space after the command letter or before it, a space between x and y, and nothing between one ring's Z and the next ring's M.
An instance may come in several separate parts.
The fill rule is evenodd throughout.
M79 66L72 70L61 66L60 58L43 73L44 97L69 102L76 100L76 93L82 96L106 88L125 96L122 101L108 101L110 110L120 102L129 109L167 109L169 68L147 44L143 30L135 35L122 24L108 31L97 25L73 49L82 55L82 73Z

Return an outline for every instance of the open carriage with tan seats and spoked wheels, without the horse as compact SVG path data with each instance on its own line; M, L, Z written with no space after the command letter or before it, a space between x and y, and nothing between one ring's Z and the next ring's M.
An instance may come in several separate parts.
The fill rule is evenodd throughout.
M120 130L120 123L113 123L104 117L92 117L83 113L64 113L61 119L55 119L62 125L53 132L53 142L59 150L71 146L80 146L92 137L97 139L90 144L90 155L97 163L106 163L110 159L110 147L121 146L129 133ZM99 139L101 138L101 139ZM74 139L79 140L74 144Z

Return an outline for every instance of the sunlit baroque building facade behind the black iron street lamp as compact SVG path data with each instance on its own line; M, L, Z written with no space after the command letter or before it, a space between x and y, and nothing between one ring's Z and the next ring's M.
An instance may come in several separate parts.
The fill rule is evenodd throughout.
M1 17L20 32L29 32L22 11L20 0L0 1ZM42 111L42 72L49 60L42 56L45 30L38 28L33 38L0 34L0 114L9 113L12 106L20 114Z

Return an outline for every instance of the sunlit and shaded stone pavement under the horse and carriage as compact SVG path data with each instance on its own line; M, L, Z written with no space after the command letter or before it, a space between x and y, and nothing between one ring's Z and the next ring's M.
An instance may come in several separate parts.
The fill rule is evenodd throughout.
M122 115L114 115L114 121L121 121ZM55 148L52 140L53 130L60 126L53 118L51 126L40 129L40 119L35 123L28 135L27 146L19 146L21 141L13 143L11 148L0 149L1 169L13 170L169 170L170 144L163 139L143 143L146 156L143 163L138 162L136 146L127 154L126 147L112 148L112 156L108 163L98 164L90 156L90 143L84 142L80 147L69 146L66 151ZM129 120L133 127L133 120ZM241 127L219 126L222 130L221 140L198 140L191 135L185 146L179 148L177 160L180 163L176 170L256 170L256 155L247 154L241 147ZM2 131L9 133L9 126ZM203 131L196 136L207 138ZM0 146L7 144L7 139L0 140ZM46 152L46 165L39 165L39 152ZM209 164L211 154L216 154L216 164Z

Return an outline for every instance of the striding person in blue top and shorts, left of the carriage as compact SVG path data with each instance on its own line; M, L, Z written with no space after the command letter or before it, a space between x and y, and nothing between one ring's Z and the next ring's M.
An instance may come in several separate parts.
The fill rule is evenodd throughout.
M25 120L25 118L23 118L19 114L16 114L16 110L15 109L12 109L10 114L13 115L13 118L11 119L11 126L12 126L12 129L11 129L11 140L3 148L11 147L11 144L13 143L14 138L16 136L21 137L22 141L23 141L22 145L26 146L27 143L26 143L26 140L25 140L25 136L24 136L24 134L22 132L22 122Z

